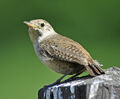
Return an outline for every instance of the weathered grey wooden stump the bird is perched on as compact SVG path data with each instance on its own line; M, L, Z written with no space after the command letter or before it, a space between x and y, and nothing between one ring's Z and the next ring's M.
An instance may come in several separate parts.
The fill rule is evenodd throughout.
M113 66L105 72L42 88L38 99L120 99L120 68Z

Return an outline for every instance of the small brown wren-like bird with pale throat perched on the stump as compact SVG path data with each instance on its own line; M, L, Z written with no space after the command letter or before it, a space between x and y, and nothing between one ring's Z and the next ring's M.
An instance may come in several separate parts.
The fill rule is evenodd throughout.
M77 77L86 70L91 76L105 74L100 64L78 42L55 32L43 19L24 21L36 55L51 70L65 76Z

